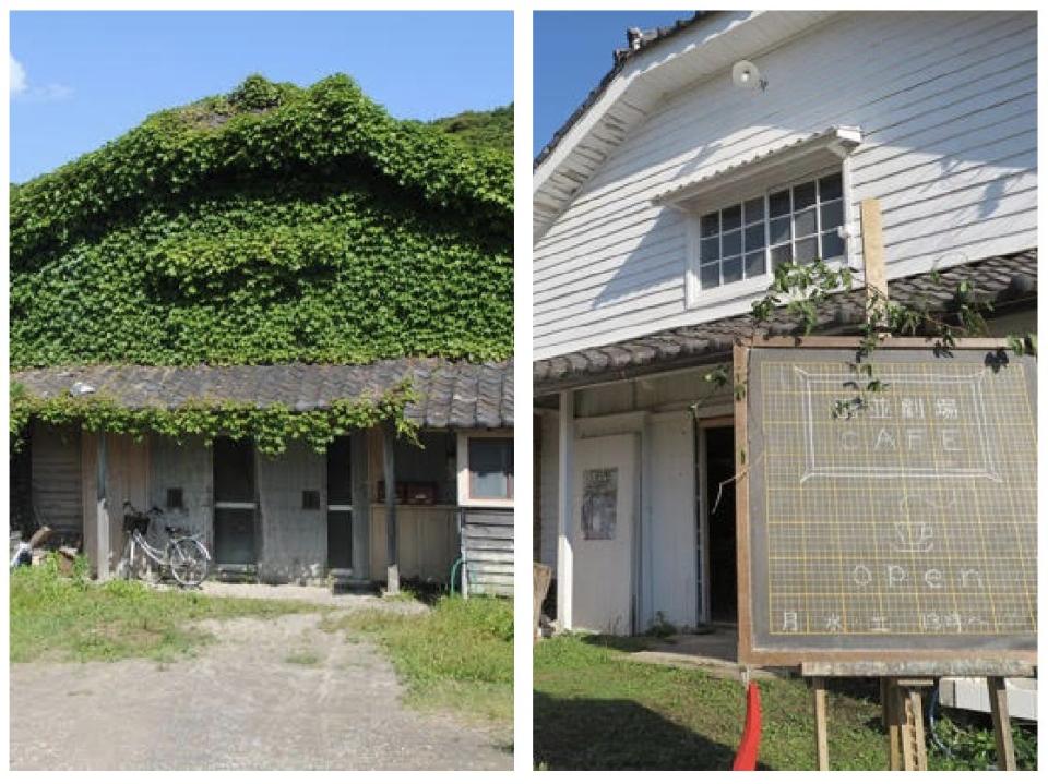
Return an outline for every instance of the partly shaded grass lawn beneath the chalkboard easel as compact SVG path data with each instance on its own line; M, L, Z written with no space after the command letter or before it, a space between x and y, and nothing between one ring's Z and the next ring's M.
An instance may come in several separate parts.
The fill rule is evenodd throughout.
M616 640L617 648L629 641ZM630 660L600 638L558 637L534 658L535 763L543 769L730 770L742 733L745 692L733 680ZM830 764L886 770L880 705L860 682L829 700ZM876 688L876 687L874 687ZM760 767L814 767L811 696L800 678L760 684ZM1019 731L1020 767L1036 767L1036 741ZM992 748L992 735L990 735ZM984 744L985 746L985 744ZM960 751L960 746L957 747ZM931 769L986 769L986 760L948 759L929 744ZM992 761L992 752L989 759Z

